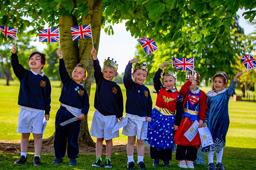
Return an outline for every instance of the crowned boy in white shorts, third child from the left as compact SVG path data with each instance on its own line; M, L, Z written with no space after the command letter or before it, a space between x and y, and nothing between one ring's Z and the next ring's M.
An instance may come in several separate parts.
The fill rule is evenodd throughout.
M97 51L94 47L91 49L93 57L94 77L96 82L96 92L94 98L95 113L91 122L91 136L97 137L96 140L96 161L92 163L93 167L101 166L101 153L103 140L106 141L106 159L105 168L112 168L111 154L113 150L112 139L119 137L119 130L114 132L112 129L123 119L123 95L122 91L113 78L118 75L117 64L110 59L105 60L101 72L101 66L97 59Z

